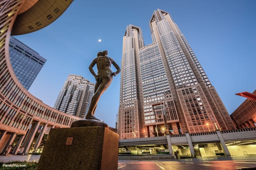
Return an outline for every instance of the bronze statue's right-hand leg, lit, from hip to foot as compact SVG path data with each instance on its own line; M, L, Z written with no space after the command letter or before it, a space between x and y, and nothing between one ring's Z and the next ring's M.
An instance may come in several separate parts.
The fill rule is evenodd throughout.
M97 91L94 93L92 100L91 100L91 104L88 110L88 113L86 115L86 119L97 119L93 116L95 109L97 107L97 103L100 99L100 96L102 95L102 93L104 91L107 90L107 88L109 87L111 81L112 81L113 77L111 78L104 78L102 79L99 88L97 89Z

